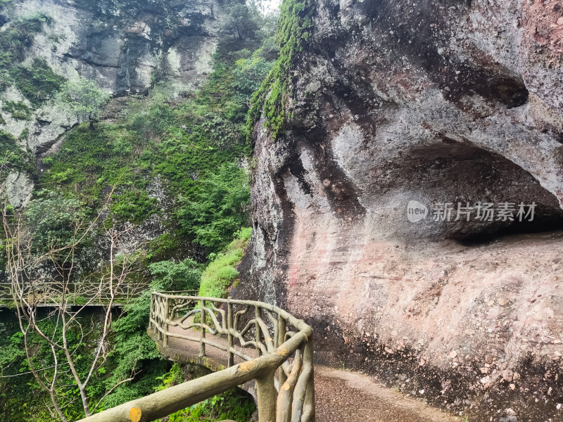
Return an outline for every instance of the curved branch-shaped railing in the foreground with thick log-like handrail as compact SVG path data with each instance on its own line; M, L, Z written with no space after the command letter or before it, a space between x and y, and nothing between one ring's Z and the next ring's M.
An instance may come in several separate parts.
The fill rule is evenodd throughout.
M260 422L315 421L312 328L267 303L152 293L148 332L164 347L224 352L227 369L121 404L84 422L148 422L255 380ZM198 346L197 346L198 345ZM235 364L235 360L239 363Z

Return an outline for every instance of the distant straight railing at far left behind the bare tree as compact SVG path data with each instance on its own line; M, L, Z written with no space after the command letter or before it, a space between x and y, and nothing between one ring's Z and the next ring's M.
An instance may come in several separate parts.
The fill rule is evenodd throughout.
M139 296L148 288L146 283L122 283L113 289L113 305L120 305ZM100 283L30 283L24 287L23 294L29 303L35 305L107 305L111 301L111 292ZM0 283L0 306L13 302L11 283Z

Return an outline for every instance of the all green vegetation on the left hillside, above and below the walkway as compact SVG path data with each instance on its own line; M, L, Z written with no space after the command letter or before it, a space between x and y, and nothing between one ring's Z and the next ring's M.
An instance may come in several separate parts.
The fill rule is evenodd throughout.
M138 267L130 281L150 283L143 295L123 309L124 313L115 312L107 357L96 367L87 391L91 403L102 399L94 411L150 394L170 377L170 373L165 375L170 364L160 359L145 333L150 290L197 289L205 271L204 286L211 286L208 291L226 295L236 279L234 266L250 236L247 168L251 151L246 142L246 115L253 92L277 58L272 31L275 17L264 18L255 8L237 2L221 7L224 18L213 70L197 91L176 95L172 86L177 81L156 68L148 93L113 98L106 113L99 116L81 109L78 117L83 123L69 129L61 143L42 158L21 148L25 143L16 136L8 132L0 135L1 152L6 150L11 157L11 169L18 166L34 180L31 199L18 211L30 223L34 239L41 245L53 240L65 243L72 240L69 222L96 222L91 239L80 247L80 271L75 281L96 276L107 256L107 243L103 241L106 230L120 229L127 236L119 253L132 257ZM49 25L43 18L37 19L39 30ZM18 60L6 62L3 75L21 75L21 82L10 79L8 83L20 84L18 92L23 93L24 82L34 81L25 72L35 68L43 71L43 64L32 67ZM49 73L46 68L44 72ZM61 98L78 115L77 101L71 97L84 90L94 94L99 90L97 85L90 89L90 82L84 78L82 82L68 82L53 75L44 78L50 82L41 92L52 90L38 94L44 95L43 99L38 97L38 106L51 101L47 96ZM95 80L92 83L97 84ZM35 113L31 99L26 97L22 102L29 112L3 102L7 104L3 115L10 113L8 129L17 120L14 114L22 113L23 117ZM208 267L209 262L214 264ZM73 355L82 362L77 366L82 376L96 348L101 316L92 311L80 317L92 330L82 337L84 333L77 328L69 342ZM48 395L28 373L30 363L23 354L13 312L2 310L0 318L0 369L3 376L9 376L0 377L0 419L56 420ZM41 324L53 338L61 336L60 327L48 314L42 315ZM32 338L33 342L37 348L32 360L51 368L54 362L46 345L40 338ZM111 390L132 371L132 381ZM69 373L61 371L55 389L68 420L83 416L80 396ZM186 409L174 420L201 420L200 416L194 418L194 412L210 420L219 416L245 420L246 410L227 415L217 410L218 402L236 400L229 397L205 404L211 409L208 414L205 409Z

